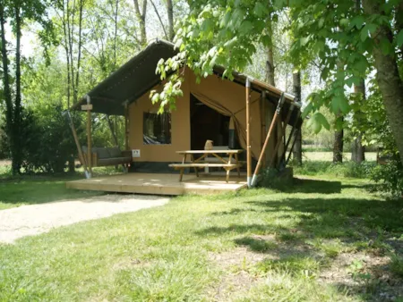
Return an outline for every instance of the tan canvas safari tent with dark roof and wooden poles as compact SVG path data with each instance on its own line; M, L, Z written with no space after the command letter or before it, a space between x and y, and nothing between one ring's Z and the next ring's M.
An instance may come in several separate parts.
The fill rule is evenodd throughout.
M129 172L174 172L169 164L183 161L177 151L203 149L206 140L220 148L244 149L241 159L244 169L248 168L248 177L259 159L261 166L284 167L287 148L292 147L302 123L300 105L294 96L241 73L235 72L232 81L223 79L224 69L220 66L196 83L193 71L184 67L184 95L177 98L176 110L158 114L159 105L150 101L150 91L164 87L156 66L161 58L173 55L176 49L171 43L151 43L72 109L86 111L89 117L91 113L125 117L123 154ZM88 122L89 148L80 153L90 170L97 165L97 159L91 161L89 156L90 118ZM287 125L290 130L286 131Z

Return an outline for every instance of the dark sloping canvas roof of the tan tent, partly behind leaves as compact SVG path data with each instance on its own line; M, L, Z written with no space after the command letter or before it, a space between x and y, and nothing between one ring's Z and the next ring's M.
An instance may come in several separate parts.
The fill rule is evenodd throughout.
M177 54L175 46L165 40L157 39L144 48L139 54L134 55L127 63L124 63L117 71L107 79L101 81L95 88L87 93L90 96L92 111L95 113L107 113L109 115L124 115L124 104L133 103L136 99L159 84L160 77L156 74L159 60L168 59ZM216 66L214 72L222 75L223 67ZM251 88L258 92L265 91L268 98L277 102L282 91L259 80L255 80L242 73L234 72L234 81L244 85L247 78L251 79ZM294 102L294 96L286 94L286 109ZM73 110L80 110L81 105L87 102L86 97L73 105ZM298 105L297 108L300 106ZM294 115L294 114L293 114ZM294 120L294 119L292 119Z

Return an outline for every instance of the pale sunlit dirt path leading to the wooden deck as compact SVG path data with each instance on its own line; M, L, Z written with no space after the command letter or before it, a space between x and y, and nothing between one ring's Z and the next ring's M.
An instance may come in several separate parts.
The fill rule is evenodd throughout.
M0 242L13 243L15 239L75 222L162 206L168 200L166 197L155 196L106 195L14 207L0 211Z

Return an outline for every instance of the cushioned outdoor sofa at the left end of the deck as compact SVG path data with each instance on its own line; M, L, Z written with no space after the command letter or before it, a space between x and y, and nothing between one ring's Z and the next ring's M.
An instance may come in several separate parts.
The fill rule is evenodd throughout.
M87 147L82 147L82 153L85 161L87 160ZM132 163L132 152L121 151L119 147L92 147L91 165L92 167L105 167L109 165L123 164L127 166ZM81 163L83 164L83 163Z

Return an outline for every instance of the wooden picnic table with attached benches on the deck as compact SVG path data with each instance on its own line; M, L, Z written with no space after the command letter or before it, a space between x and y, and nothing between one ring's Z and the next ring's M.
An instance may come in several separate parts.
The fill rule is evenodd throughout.
M226 181L229 180L229 172L236 169L238 172L238 177L241 176L240 167L242 163L239 162L238 155L244 152L244 150L184 150L176 151L177 154L183 155L182 164L169 164L171 168L180 171L179 181L182 181L184 176L184 169L193 168L196 176L199 177L199 168L223 168L227 172ZM186 162L187 156L190 156L190 163ZM194 159L194 155L201 155L199 158ZM218 159L218 163L209 163L207 156L214 156ZM227 155L227 156L225 156ZM225 158L224 158L225 157Z

